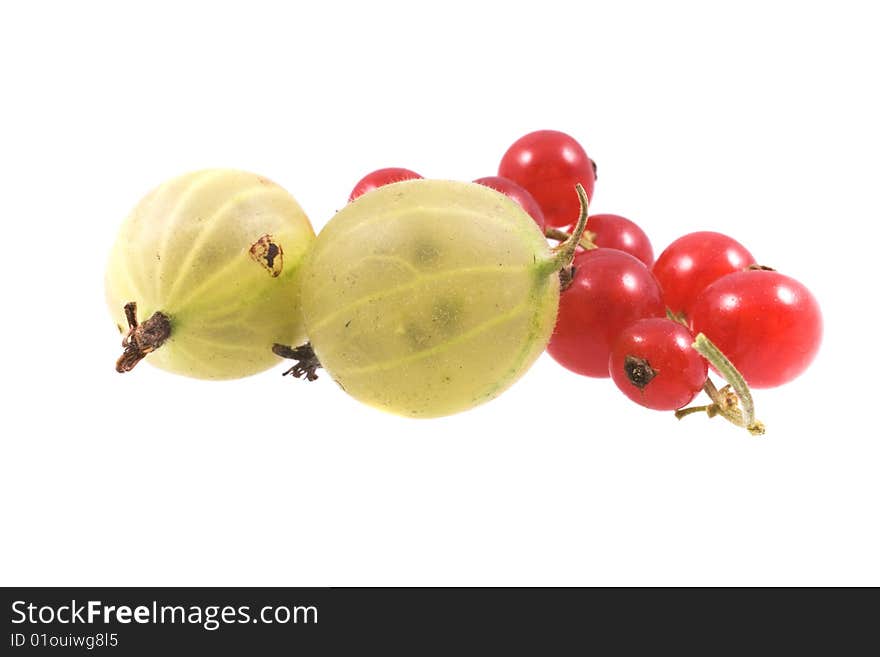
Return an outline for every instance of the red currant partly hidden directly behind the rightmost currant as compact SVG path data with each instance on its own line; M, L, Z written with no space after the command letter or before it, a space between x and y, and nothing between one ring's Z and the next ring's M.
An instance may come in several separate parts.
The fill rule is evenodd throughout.
M690 306L700 292L722 276L753 264L752 254L732 237L700 231L667 246L652 271L663 289L666 306L676 314L690 316Z

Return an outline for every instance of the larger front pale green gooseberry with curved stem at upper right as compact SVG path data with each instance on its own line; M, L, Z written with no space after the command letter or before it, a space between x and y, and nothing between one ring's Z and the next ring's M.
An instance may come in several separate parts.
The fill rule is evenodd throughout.
M553 331L559 272L586 220L582 191L578 229L556 249L519 205L474 183L409 180L353 201L303 267L317 359L350 395L399 415L496 397Z

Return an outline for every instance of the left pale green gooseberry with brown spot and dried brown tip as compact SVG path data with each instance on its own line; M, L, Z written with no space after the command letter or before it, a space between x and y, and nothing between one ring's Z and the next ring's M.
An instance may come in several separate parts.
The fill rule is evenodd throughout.
M146 358L233 379L278 363L273 344L304 340L299 274L314 238L296 200L254 173L209 169L154 189L107 265L107 304L124 336L117 370Z

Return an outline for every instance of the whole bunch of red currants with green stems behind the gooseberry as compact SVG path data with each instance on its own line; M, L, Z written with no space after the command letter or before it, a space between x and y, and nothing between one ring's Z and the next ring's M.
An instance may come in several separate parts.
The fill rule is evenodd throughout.
M392 182L421 178L408 169L374 171L350 200ZM548 238L570 235L575 184L592 198L596 164L572 137L540 130L507 150L498 175L474 182L508 195ZM801 374L819 349L822 316L801 283L759 266L731 237L689 233L654 261L632 221L590 215L564 283L549 354L584 376L610 377L630 399L678 417L720 415L753 434L749 386L768 388ZM718 389L709 367L727 385ZM685 408L704 390L710 403Z

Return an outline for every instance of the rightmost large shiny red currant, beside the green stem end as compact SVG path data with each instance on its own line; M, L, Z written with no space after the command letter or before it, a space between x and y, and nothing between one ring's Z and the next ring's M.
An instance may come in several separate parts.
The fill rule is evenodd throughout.
M728 274L691 307L694 333L705 333L753 388L791 381L822 341L822 313L810 291L776 271Z

